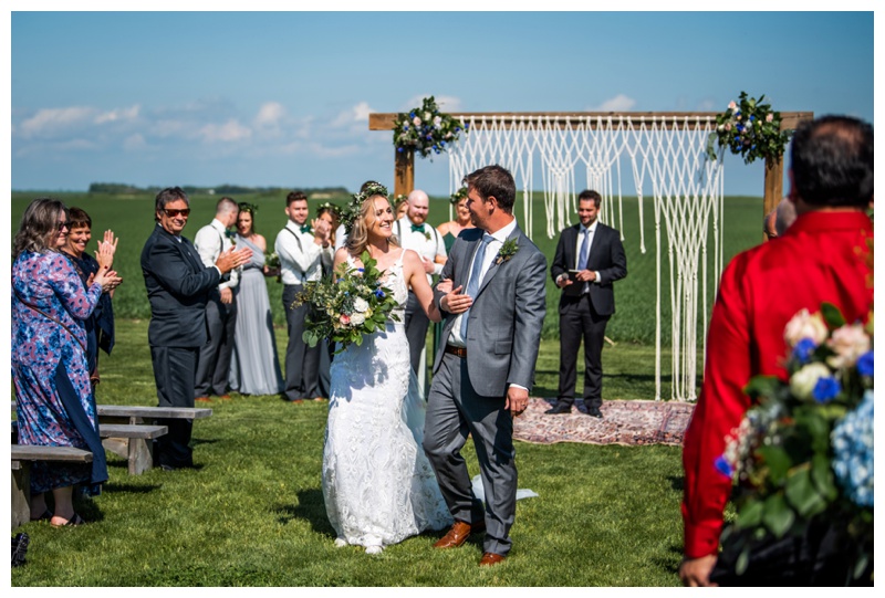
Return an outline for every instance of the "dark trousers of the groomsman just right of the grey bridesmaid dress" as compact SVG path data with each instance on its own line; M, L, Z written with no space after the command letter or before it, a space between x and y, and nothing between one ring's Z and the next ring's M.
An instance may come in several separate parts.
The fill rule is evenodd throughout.
M283 286L283 308L289 328L289 343L285 346L285 389L283 395L290 401L296 399L315 399L320 397L320 353L323 344L309 347L304 334L304 318L310 305L292 307L295 295L303 288L300 284Z

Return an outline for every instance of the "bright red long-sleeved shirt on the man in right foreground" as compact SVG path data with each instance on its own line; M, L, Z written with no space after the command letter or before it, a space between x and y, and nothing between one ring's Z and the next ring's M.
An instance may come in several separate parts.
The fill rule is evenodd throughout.
M750 407L743 388L758 374L787 379L783 329L822 302L846 322L873 308L873 223L860 211L800 216L780 238L738 254L722 273L707 337L704 386L685 436L685 554L715 554L731 480L714 462Z

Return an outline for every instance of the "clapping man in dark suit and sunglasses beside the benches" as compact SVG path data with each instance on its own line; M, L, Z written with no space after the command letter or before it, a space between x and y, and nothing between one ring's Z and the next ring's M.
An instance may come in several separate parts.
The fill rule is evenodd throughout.
M157 225L142 250L142 273L150 302L147 342L159 407L194 407L199 349L206 343L206 302L221 276L242 265L252 252L222 252L205 266L190 241L181 237L190 207L179 187L157 193ZM169 431L157 440L155 459L164 470L192 466L191 420L163 421Z

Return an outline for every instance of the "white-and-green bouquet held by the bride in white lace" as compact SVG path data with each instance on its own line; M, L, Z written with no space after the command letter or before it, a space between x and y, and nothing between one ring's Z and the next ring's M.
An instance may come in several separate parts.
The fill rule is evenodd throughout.
M363 336L387 326L389 319L399 321L393 313L398 305L391 288L382 283L377 263L364 251L360 256L363 267L352 267L346 262L339 265L335 276L309 282L295 297L294 304L309 303L313 310L304 321L303 340L311 347L329 338L341 343L341 353L354 343L361 345Z

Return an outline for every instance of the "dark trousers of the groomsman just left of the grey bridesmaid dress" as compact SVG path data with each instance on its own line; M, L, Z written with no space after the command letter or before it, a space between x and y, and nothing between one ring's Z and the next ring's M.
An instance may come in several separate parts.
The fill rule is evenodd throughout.
M215 291L206 303L206 344L197 360L194 397L220 397L227 394L230 359L233 355L233 332L237 327L237 303L221 303Z

